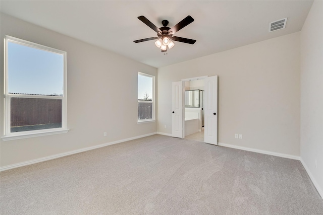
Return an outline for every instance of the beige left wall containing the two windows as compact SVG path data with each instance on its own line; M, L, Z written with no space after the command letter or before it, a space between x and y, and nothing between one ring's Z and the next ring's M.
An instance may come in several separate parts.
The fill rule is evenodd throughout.
M1 14L1 41L5 34L67 51L67 125L70 131L1 140L1 167L156 132L156 122L137 124L137 72L156 76L156 68ZM1 50L3 48L1 42ZM4 59L3 51L1 59ZM0 67L3 80L3 60ZM3 95L3 81L0 89ZM3 107L1 96L2 128ZM104 131L107 137L103 137Z

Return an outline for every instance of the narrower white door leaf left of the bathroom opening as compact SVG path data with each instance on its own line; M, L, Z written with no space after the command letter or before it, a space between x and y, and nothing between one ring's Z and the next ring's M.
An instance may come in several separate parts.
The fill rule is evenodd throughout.
M173 82L172 87L172 136L183 138L183 82Z

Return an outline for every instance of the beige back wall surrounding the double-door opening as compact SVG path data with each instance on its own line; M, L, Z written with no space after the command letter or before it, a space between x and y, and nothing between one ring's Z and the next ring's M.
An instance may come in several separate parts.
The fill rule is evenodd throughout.
M219 142L299 156L299 44L297 32L158 68L158 132L172 133L172 82L218 75Z

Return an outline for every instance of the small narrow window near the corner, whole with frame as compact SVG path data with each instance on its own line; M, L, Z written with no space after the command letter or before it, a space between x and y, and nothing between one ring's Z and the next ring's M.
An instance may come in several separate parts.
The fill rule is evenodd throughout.
M155 119L153 76L138 73L138 122Z

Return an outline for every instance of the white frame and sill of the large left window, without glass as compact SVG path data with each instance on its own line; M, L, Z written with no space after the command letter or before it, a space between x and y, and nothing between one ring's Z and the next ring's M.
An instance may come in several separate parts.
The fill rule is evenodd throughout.
M41 95L24 95L24 94L8 94L8 42L14 42L16 44L28 46L31 48L37 48L53 53L59 53L63 55L64 58L64 87L63 87L63 96L41 96ZM50 48L44 45L40 45L37 43L29 42L26 40L18 39L12 36L5 36L5 135L1 138L3 140L13 140L13 139L22 139L22 138L29 138L29 137L36 137L36 136L44 136L50 134L58 134L58 133L67 133L69 129L67 129L67 74L66 74L66 51L58 50L55 48ZM13 97L25 97L25 98L45 98L45 99L62 99L62 127L61 128L51 128L51 129L41 129L41 130L31 130L31 131L21 131L21 132L10 132L10 100Z

